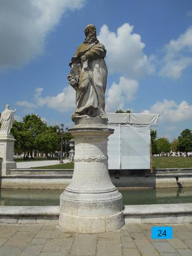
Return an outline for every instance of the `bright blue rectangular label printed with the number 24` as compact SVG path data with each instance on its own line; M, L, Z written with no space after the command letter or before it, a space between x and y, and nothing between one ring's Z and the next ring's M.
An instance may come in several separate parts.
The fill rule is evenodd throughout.
M152 239L172 239L172 227L152 227Z

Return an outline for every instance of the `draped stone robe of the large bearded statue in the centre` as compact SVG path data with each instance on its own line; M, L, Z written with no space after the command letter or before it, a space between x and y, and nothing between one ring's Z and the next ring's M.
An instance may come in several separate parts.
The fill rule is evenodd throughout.
M76 109L73 116L105 116L105 89L107 66L104 60L106 50L101 43L80 44L72 57L70 66L81 65L79 86L76 90ZM80 57L87 56L81 63Z

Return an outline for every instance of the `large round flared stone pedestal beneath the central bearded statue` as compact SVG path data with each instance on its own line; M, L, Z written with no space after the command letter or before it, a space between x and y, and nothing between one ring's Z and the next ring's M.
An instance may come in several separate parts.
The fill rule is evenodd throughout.
M105 233L124 225L121 193L108 174L105 118L77 118L69 132L75 141L74 174L60 195L59 226L68 232Z

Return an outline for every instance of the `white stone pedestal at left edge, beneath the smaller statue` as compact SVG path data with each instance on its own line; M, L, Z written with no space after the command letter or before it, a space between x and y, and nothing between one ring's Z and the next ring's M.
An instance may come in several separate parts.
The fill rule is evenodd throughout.
M13 161L14 143L15 138L12 135L0 134L1 176L6 176L10 169L16 168L16 163Z

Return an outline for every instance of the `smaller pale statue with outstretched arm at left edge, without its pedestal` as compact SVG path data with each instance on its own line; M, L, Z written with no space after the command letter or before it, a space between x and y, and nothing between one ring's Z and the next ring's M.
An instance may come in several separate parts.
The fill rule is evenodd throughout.
M0 124L1 124L1 129L0 129L0 134L10 134L10 130L12 129L13 126L13 115L16 112L15 110L10 110L10 105L6 104L5 105L5 110L1 113L1 118L0 118Z

